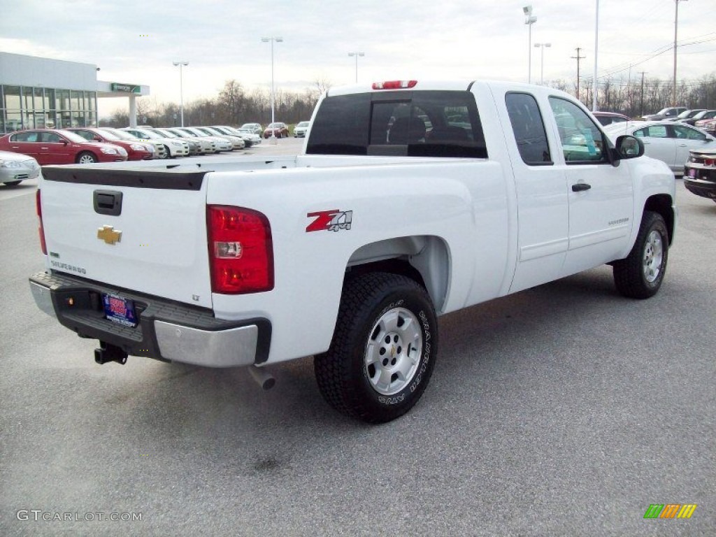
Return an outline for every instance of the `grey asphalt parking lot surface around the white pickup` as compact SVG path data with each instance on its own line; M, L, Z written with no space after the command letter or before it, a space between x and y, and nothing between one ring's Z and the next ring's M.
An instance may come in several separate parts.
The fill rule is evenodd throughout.
M603 266L443 316L430 387L380 426L328 407L309 358L269 392L95 364L30 296L34 185L0 185L0 535L715 535L716 203L677 183L657 296ZM668 503L697 508L644 519Z

